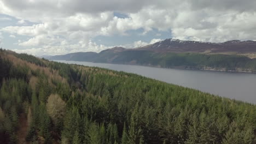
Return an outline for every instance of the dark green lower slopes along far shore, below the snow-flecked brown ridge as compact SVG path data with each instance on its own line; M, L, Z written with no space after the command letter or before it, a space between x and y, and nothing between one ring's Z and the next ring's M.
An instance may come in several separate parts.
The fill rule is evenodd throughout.
M191 52L162 53L147 50L113 52L110 49L100 53L78 52L48 58L66 61L147 65L161 68L256 72L256 58L242 55Z

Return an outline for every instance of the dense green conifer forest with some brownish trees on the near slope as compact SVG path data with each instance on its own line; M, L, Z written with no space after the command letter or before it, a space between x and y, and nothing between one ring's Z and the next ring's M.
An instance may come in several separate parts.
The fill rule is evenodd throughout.
M253 104L2 49L0 68L1 143L256 143Z

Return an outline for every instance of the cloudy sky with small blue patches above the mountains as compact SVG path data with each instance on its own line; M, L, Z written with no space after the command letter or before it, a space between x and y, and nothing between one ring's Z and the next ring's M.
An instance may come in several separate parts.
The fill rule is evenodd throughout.
M167 38L256 40L255 0L0 0L0 47L36 56Z

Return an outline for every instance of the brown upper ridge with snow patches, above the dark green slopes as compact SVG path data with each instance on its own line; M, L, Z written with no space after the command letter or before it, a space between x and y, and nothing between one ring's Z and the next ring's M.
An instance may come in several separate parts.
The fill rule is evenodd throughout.
M154 52L256 52L256 41L230 40L224 43L205 43L201 41L188 41L179 39L166 39L158 43L137 48Z

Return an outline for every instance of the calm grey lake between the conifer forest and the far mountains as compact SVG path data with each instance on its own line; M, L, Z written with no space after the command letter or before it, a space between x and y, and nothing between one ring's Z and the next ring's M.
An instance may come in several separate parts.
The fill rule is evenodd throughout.
M152 79L173 83L184 87L199 89L236 100L256 104L256 74L206 70L181 70L144 67L138 65L57 61L92 67L107 68L139 74Z

